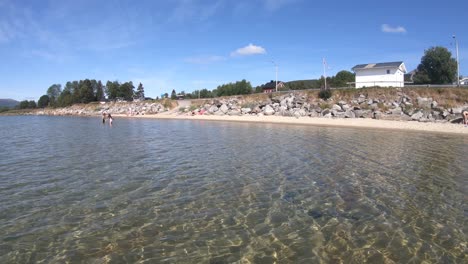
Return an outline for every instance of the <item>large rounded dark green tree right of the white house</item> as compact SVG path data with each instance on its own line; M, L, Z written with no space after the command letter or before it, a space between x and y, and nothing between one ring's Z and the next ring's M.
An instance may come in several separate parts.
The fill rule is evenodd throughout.
M417 70L415 82L448 84L456 80L457 62L447 48L431 47L424 51Z

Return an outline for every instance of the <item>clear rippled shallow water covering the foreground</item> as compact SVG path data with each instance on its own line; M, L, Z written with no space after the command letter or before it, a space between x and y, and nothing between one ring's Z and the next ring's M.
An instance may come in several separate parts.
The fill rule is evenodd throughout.
M467 261L466 136L0 123L0 263Z

